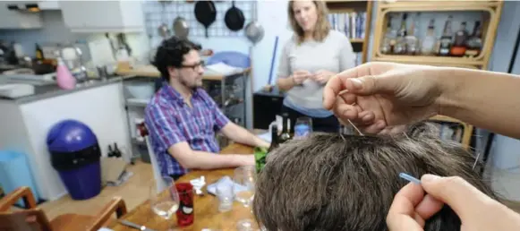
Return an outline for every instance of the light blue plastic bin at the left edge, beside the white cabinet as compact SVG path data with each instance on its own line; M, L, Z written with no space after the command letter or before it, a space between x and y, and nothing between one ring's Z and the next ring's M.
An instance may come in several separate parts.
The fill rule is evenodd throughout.
M38 201L38 189L30 171L29 163L23 153L13 150L0 150L0 184L5 194L15 189L27 186ZM25 207L22 200L17 205Z

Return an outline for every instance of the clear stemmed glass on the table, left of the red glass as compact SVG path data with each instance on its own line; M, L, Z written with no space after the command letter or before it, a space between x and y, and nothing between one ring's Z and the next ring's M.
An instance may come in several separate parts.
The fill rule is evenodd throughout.
M171 177L163 177L166 189L161 191L156 183L150 186L149 201L151 210L161 218L170 219L179 209L179 193L175 188L175 181ZM160 188L160 187L159 187Z

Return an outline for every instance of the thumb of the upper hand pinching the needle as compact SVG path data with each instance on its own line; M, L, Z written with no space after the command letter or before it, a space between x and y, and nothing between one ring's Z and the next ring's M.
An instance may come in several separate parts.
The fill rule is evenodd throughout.
M367 75L345 80L345 88L356 95L394 93L401 84L399 78L388 75Z

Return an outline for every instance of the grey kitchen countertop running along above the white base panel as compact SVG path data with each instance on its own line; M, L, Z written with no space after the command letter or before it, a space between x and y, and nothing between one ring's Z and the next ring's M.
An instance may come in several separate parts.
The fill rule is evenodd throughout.
M0 100L11 100L11 101L16 102L17 104L30 103L30 102L38 101L41 99L62 96L65 94L70 94L70 93L81 91L81 90L89 90L92 88L98 88L98 87L105 86L105 85L108 85L108 84L111 84L111 83L114 83L117 81L122 81L124 78L130 78L130 77L133 77L133 76L125 76L125 77L111 76L111 77L108 77L107 80L94 79L91 81L80 82L80 83L76 84L76 88L73 90L60 89L58 87L58 85L55 82L53 82L53 83L49 83L49 84L45 84L45 85L34 86L33 95L24 96L24 97L20 97L20 98L0 97Z

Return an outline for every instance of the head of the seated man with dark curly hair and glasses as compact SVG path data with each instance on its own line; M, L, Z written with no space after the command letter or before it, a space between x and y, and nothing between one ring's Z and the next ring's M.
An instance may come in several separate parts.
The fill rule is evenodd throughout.
M165 81L176 81L188 89L200 87L204 72L200 48L190 40L173 36L158 47L154 65Z

